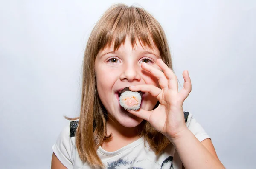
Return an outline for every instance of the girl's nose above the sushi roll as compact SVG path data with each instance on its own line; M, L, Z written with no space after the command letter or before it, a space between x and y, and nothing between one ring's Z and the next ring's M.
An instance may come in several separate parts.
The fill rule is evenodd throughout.
M140 65L124 65L120 74L121 81L140 81Z

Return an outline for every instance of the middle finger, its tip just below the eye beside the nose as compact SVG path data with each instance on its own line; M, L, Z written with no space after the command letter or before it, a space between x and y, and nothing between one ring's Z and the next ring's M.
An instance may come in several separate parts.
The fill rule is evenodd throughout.
M144 62L141 63L141 68L143 68L144 70L150 72L153 76L155 76L158 79L158 83L162 89L168 87L168 81L162 71Z

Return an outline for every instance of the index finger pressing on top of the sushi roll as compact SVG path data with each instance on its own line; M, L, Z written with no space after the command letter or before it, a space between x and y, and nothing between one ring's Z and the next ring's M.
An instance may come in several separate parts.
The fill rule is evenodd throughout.
M160 88L154 85L148 85L148 84L130 86L129 89L134 92L135 91L148 92L152 96L156 97L157 99L159 99L159 95L162 91Z

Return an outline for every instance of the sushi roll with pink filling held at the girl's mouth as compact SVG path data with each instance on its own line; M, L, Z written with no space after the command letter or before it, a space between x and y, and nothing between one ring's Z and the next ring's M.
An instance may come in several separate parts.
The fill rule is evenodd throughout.
M125 110L139 110L142 92L133 92L125 87L119 94L119 103Z

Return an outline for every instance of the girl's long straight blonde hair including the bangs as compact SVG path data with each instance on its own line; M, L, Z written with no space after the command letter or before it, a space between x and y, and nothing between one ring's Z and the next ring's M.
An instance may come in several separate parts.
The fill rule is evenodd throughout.
M97 155L97 149L103 141L111 138L111 135L106 135L108 115L97 93L94 62L100 50L112 43L114 50L117 50L125 42L126 36L130 38L132 46L136 44L136 38L143 46L152 48L155 45L163 62L172 69L171 54L163 28L151 14L143 8L125 4L115 4L105 11L90 34L84 53L81 112L76 130L79 156L93 168L105 167ZM142 121L140 126L138 135L148 141L156 154L170 144L169 139L147 121Z

